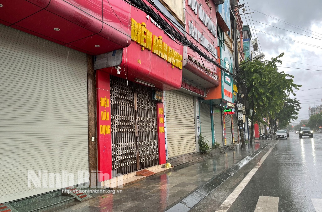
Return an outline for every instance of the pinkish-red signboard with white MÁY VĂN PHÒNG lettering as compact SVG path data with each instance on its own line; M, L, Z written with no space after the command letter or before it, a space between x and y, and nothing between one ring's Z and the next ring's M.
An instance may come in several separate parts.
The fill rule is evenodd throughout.
M187 38L218 62L217 20L214 2L210 0L187 0L185 2ZM219 68L213 63L208 62L190 48L187 48L187 55L184 57L186 59L185 68L189 71L203 72L207 74L206 77L211 77L219 82Z

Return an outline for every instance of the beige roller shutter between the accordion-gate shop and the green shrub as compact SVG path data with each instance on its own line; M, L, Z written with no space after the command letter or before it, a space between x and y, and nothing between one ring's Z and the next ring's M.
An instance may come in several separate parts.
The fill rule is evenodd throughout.
M193 96L166 91L166 127L169 157L196 150Z

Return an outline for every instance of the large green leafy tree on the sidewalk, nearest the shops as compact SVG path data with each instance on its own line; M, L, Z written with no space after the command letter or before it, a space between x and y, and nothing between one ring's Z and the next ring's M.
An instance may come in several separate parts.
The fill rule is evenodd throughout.
M281 53L271 60L263 62L254 60L244 63L240 66L241 77L245 79L247 87L246 99L252 111L251 124L262 122L262 117L275 115L283 108L284 100L293 92L293 89L299 90L301 85L293 82L294 76L285 72L278 72L277 63L282 64L279 58L283 57ZM253 139L253 127L251 128L251 141Z

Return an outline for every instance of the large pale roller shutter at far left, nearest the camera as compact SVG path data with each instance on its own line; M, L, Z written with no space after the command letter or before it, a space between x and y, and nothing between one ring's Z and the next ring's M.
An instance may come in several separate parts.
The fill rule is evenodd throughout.
M78 184L89 168L86 54L0 24L0 90L1 202L59 189L28 188L28 170L66 170Z

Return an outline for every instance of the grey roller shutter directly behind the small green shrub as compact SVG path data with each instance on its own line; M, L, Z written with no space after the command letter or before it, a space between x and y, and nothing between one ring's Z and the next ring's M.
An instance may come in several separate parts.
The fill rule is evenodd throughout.
M200 127L201 133L208 140L208 145L212 147L212 133L211 133L211 113L210 105L205 103L199 103L200 108Z

